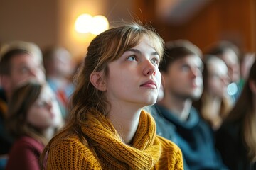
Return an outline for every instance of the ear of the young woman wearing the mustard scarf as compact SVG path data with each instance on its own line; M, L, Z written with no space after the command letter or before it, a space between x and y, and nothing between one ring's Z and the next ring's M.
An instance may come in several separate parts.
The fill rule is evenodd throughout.
M93 86L95 86L96 89L100 91L107 90L107 84L102 76L102 72L92 72L92 74L90 74L90 82Z

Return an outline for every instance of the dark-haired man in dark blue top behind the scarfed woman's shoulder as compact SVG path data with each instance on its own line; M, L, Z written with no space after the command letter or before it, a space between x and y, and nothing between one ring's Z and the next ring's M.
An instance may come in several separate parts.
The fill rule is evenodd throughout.
M159 69L164 98L151 110L157 134L181 148L184 169L225 169L213 130L192 106L203 91L201 50L187 40L167 42Z

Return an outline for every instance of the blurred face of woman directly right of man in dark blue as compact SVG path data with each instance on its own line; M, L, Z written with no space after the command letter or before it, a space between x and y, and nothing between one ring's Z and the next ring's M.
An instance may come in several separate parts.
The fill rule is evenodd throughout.
M223 60L211 58L208 63L208 92L213 96L223 97L227 94L229 84L228 67Z

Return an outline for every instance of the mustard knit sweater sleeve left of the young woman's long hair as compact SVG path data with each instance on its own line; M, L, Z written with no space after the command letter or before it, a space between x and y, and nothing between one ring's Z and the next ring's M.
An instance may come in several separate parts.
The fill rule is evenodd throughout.
M101 169L90 149L78 138L63 140L51 147L46 163L46 169Z

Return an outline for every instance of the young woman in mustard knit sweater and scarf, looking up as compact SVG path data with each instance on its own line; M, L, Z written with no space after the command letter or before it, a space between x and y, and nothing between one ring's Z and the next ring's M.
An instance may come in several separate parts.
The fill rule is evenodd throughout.
M183 169L144 106L159 93L163 40L137 23L92 40L76 77L68 124L43 152L46 169Z

